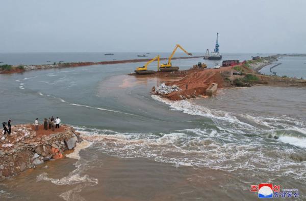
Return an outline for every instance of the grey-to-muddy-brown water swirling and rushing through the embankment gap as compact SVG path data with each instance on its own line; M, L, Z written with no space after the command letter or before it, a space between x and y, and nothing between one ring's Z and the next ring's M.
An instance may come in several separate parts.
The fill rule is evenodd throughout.
M173 64L187 69L198 61ZM149 94L166 80L124 75L137 65L1 75L3 121L59 116L85 141L70 158L6 180L0 197L256 200L250 185L273 183L297 188L305 199L305 88L223 89L213 98L172 102Z

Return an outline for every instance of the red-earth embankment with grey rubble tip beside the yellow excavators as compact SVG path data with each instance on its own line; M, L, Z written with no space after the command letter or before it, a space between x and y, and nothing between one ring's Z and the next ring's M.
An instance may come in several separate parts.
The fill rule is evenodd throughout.
M277 61L276 56L262 57L258 60L248 60L235 66L220 69L194 69L177 72L157 72L151 75L141 75L149 78L180 78L162 86L155 86L151 93L179 101L202 96L208 96L207 89L217 84L218 89L224 87L250 87L254 84L273 86L306 86L306 80L278 76L265 76L259 73L264 66ZM130 74L140 77L137 74Z

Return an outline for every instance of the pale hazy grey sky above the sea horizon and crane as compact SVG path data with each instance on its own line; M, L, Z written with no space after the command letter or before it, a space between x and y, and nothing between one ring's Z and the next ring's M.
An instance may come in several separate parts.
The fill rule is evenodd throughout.
M305 0L0 0L0 52L306 52Z

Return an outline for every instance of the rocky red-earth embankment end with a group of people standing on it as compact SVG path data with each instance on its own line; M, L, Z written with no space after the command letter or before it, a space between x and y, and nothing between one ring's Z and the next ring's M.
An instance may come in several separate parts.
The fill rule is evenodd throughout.
M44 161L62 158L64 151L81 142L80 133L68 125L55 131L44 130L43 126L36 131L31 124L12 126L11 135L0 141L0 181L35 169Z

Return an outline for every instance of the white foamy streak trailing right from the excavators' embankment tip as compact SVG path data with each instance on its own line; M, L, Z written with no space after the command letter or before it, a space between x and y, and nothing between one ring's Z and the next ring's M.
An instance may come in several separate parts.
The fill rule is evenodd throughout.
M221 110L211 109L193 104L191 101L170 101L158 95L152 95L152 99L167 104L172 110L181 111L189 115L198 115L212 119L217 125L228 129L249 129L262 132L272 129L291 129L306 135L305 123L291 117L253 117L248 114L235 114ZM240 120L245 119L245 122Z

